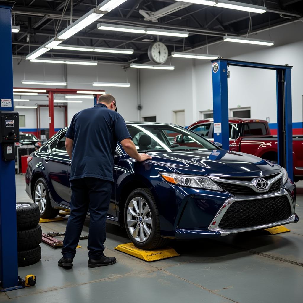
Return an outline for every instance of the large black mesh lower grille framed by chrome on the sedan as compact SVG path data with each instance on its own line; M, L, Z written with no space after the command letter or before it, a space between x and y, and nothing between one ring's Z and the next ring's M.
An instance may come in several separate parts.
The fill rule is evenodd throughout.
M291 208L286 196L233 202L219 223L222 229L245 228L288 219Z

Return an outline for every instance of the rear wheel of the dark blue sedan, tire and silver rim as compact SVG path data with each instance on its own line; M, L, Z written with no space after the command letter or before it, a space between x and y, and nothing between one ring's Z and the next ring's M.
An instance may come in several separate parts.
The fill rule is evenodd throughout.
M39 206L41 218L55 218L58 216L59 210L52 208L48 188L43 178L39 178L35 184L33 200Z

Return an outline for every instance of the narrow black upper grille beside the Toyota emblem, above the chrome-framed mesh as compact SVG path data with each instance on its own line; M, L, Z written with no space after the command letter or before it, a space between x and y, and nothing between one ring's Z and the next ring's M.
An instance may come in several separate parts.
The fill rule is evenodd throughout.
M229 193L235 196L261 194L260 192L256 192L252 188L245 185L237 185L236 183L223 183L223 182L216 182L216 183L225 191L228 191ZM277 181L271 184L271 187L268 189L268 191L262 191L262 193L271 193L271 192L279 191L280 183L281 183L281 178L279 178Z

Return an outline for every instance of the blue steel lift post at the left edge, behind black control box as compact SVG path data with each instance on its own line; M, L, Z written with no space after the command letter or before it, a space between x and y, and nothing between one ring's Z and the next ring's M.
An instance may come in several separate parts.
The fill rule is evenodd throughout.
M10 107L0 107L4 111L14 110L11 20L14 4L13 1L0 1L2 39L0 98L11 100ZM0 281L1 291L23 287L18 281L15 161L2 160L2 146L0 148Z

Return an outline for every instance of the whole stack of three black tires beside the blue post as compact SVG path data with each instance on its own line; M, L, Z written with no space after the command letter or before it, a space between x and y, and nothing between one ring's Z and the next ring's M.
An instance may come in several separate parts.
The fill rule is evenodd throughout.
M16 203L18 267L37 263L41 259L42 240L40 209L34 203Z

